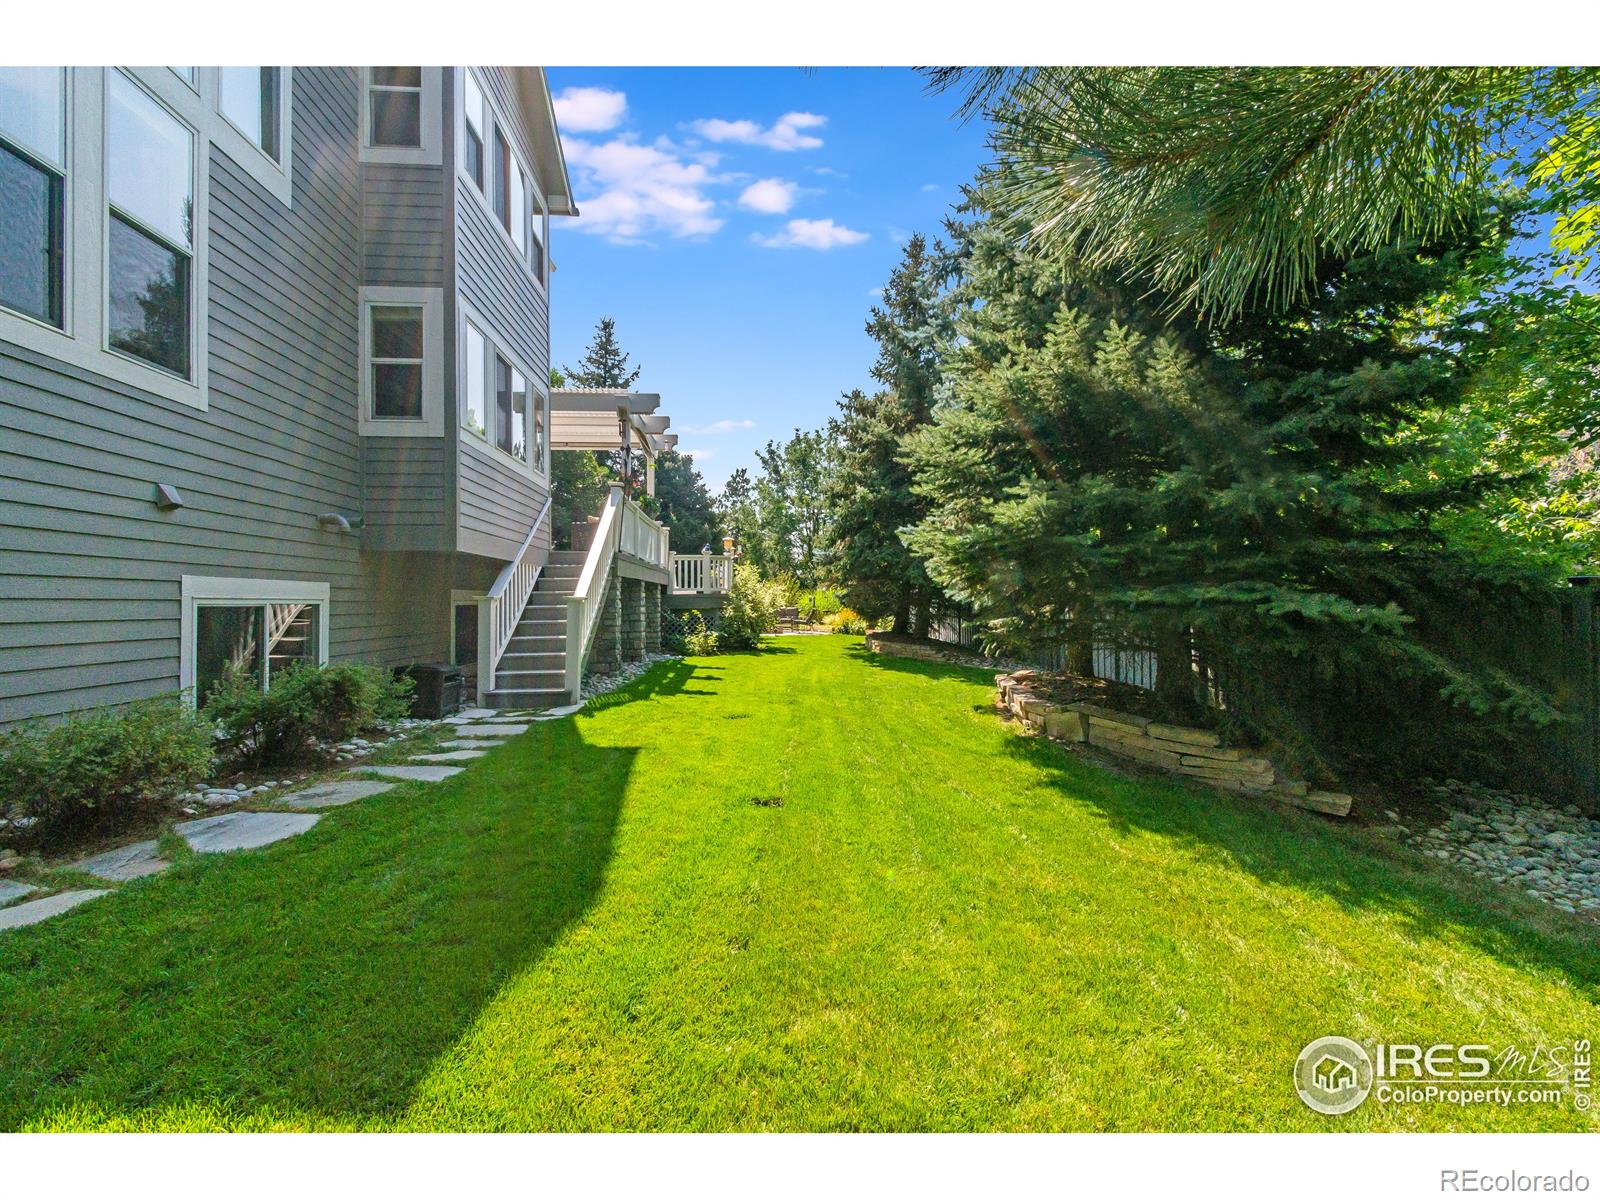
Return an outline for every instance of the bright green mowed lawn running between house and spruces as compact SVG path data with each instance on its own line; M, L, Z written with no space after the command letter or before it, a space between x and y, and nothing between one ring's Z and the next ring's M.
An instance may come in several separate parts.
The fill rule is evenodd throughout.
M0 934L0 1126L1595 1128L1290 1082L1322 1034L1592 1037L1594 925L1106 774L992 693L843 637L664 664Z

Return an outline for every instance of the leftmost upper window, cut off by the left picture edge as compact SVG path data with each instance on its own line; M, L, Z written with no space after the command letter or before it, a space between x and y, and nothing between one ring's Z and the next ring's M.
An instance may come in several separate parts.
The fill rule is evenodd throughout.
M66 72L0 67L0 304L62 328Z

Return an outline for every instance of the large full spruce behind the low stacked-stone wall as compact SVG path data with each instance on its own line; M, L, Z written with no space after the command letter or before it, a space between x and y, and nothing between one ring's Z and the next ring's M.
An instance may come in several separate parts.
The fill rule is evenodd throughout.
M1042 264L998 221L962 227L950 402L907 438L930 504L912 549L1016 643L1083 622L1154 643L1170 699L1198 707L1192 634L1229 667L1230 717L1307 762L1491 758L1550 709L1451 618L1539 581L1434 528L1496 480L1394 470L1419 453L1414 413L1466 384L1475 334L1432 301L1502 237L1483 219L1325 256L1309 299L1173 336L1122 280Z

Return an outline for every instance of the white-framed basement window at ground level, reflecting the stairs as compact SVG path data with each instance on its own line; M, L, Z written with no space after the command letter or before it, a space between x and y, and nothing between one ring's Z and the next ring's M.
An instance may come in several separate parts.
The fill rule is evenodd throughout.
M182 579L179 686L197 707L242 677L262 691L296 664L328 661L328 584Z

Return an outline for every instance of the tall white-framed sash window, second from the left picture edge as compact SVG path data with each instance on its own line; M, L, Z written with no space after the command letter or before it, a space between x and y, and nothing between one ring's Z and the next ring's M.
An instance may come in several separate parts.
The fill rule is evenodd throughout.
M114 350L189 378L194 134L106 75L107 330Z

